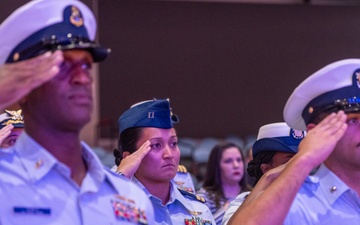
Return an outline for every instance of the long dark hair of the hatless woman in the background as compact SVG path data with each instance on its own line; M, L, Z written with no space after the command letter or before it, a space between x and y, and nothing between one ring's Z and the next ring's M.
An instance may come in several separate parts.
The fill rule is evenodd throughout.
M214 193L214 202L216 207L220 206L221 199L225 199L225 195L222 189L221 183L221 171L220 171L220 160L223 152L228 148L235 147L239 149L241 154L242 162L244 163L244 177L239 181L239 185L241 187L241 191L249 191L250 187L246 182L246 173L245 173L245 159L244 155L239 146L231 142L219 143L214 146L211 150L209 160L206 166L206 174L204 179L203 188L208 191Z

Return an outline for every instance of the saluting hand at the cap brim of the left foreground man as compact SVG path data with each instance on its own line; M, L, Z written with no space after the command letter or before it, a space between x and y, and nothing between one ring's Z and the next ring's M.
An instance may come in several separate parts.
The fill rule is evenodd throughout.
M60 71L62 51L0 66L0 109L16 103Z

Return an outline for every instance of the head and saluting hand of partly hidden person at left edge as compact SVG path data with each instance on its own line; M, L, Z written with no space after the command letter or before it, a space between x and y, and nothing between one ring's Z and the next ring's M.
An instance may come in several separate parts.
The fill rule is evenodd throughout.
M13 146L24 130L24 119L21 110L5 110L0 115L0 147L7 148Z

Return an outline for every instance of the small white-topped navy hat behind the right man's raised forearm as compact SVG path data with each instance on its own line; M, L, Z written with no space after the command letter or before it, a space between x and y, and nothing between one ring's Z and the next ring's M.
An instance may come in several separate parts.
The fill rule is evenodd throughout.
M264 125L260 127L257 140L252 147L253 157L267 151L295 154L305 135L305 131L294 130L285 122Z

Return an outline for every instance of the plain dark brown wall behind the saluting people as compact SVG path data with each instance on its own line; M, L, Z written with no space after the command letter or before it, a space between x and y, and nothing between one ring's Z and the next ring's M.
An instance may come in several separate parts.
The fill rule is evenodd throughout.
M1 21L24 2L2 0ZM113 126L135 102L170 98L180 136L246 136L282 121L288 96L311 73L360 55L359 6L99 0L98 7L100 42L113 50L100 65L100 119Z

